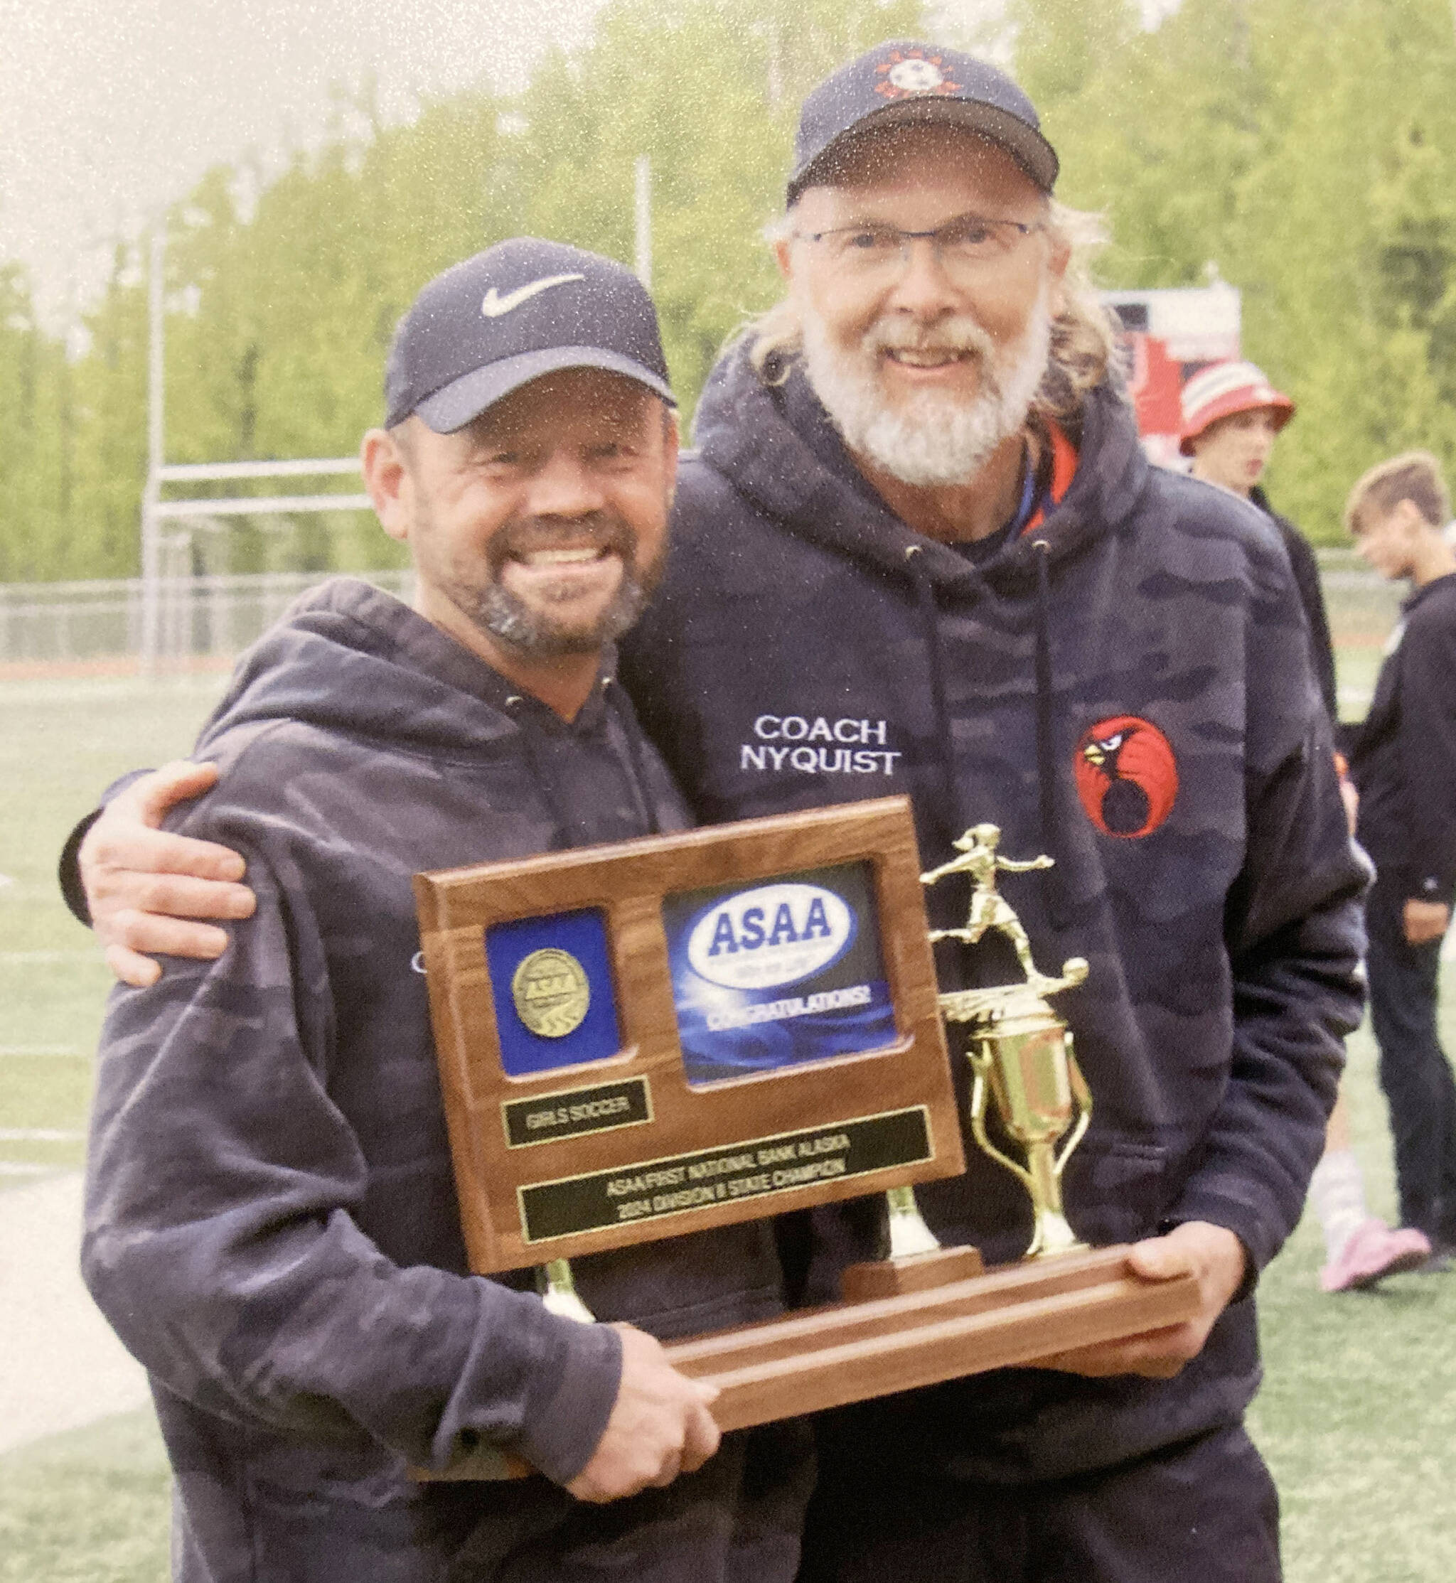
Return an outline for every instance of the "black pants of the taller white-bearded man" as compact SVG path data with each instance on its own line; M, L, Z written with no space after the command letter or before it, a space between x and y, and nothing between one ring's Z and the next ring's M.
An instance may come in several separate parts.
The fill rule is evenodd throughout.
M1030 1485L825 1458L799 1583L1277 1583L1279 1496L1241 1426Z

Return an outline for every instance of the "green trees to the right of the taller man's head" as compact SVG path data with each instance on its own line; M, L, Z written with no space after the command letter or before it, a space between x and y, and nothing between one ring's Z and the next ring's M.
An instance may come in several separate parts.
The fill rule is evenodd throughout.
M1244 296L1244 353L1299 404L1268 488L1318 541L1372 462L1456 484L1456 8L1450 0L1013 0L1018 74L1103 209L1117 287Z

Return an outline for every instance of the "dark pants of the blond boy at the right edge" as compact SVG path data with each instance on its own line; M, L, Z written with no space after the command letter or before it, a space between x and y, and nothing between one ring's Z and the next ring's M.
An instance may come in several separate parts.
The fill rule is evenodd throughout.
M1440 940L1405 943L1397 888L1378 880L1366 901L1371 1021L1390 1105L1401 1224L1456 1241L1456 1081L1435 1031Z

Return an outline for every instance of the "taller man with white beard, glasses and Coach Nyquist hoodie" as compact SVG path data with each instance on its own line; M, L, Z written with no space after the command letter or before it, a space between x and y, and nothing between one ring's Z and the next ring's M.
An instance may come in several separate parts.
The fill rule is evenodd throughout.
M1359 1016L1363 871L1283 551L1147 467L1056 174L1027 98L954 51L885 44L809 97L785 301L709 380L624 646L703 818L908 792L926 867L981 822L1056 860L1007 898L1038 958L1090 961L1062 1000L1095 1095L1068 1217L1203 1292L1187 1325L826 1417L807 1580L1279 1575L1250 1292ZM111 939L206 943L127 910L150 850L93 837ZM187 883L155 901L190 910ZM929 904L964 917L950 885ZM1019 977L1008 942L937 950L946 988ZM1014 1258L1026 1194L967 1154L926 1219ZM882 1213L815 1213L807 1300Z

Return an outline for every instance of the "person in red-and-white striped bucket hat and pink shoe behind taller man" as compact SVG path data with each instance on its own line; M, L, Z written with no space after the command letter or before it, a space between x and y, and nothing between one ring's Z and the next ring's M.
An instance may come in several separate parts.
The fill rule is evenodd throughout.
M1334 644L1320 587L1320 567L1309 540L1269 505L1260 480L1274 440L1295 416L1295 404L1253 363L1214 363L1182 391L1179 450L1192 473L1257 505L1279 530L1295 571L1309 628L1309 657L1331 722L1339 719ZM1344 773L1344 761L1340 761ZM1353 818L1355 792L1345 780ZM1363 1290L1385 1276L1423 1265L1431 1244L1412 1227L1391 1230L1366 1208L1364 1176L1350 1138L1350 1107L1340 1092L1325 1137L1325 1156L1309 1184L1309 1200L1325 1236L1325 1292Z

